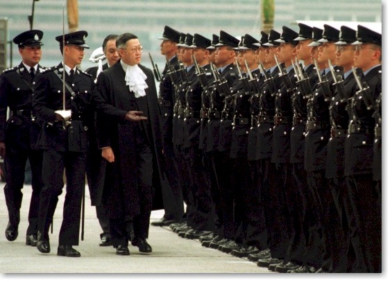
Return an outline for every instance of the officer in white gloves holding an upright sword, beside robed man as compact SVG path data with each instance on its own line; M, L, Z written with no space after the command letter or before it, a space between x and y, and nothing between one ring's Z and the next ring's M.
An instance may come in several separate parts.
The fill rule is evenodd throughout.
M49 226L64 186L64 170L67 179L58 256L80 256L72 246L79 243L80 210L85 187L87 119L94 91L92 76L76 67L83 60L85 48L89 48L85 44L86 36L87 32L80 30L56 37L64 62L40 74L33 97L33 109L43 122L37 141L38 148L44 150L44 187L40 197L37 242L37 249L42 253L51 251Z

